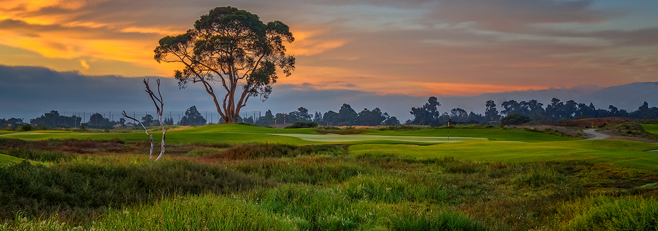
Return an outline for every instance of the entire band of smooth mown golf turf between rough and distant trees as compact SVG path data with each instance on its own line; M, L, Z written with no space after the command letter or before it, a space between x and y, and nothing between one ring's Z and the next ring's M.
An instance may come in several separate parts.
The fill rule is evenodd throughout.
M651 126L649 126L651 127ZM334 132L340 132L338 130ZM322 131L322 133L332 131ZM394 154L415 158L455 158L478 161L551 161L590 160L640 169L658 169L658 144L626 140L578 140L545 133L516 129L422 129L417 131L353 130L358 135L322 135L316 129L272 129L248 125L209 125L167 132L169 144L184 143L280 143L280 144L350 144L354 154ZM151 132L159 142L161 133ZM26 140L120 138L129 142L146 141L143 132L74 133L31 131L0 134L0 137ZM417 145L400 145L417 144ZM156 145L157 146L157 145Z

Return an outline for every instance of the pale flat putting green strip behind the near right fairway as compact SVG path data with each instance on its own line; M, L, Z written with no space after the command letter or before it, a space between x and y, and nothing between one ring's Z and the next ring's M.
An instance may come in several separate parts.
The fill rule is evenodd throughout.
M467 140L487 140L487 138L474 138L474 137L411 137L411 136L384 136L384 135L312 135L312 134L268 134L284 137L296 137L302 140L315 141L315 142L351 142L351 141L366 141L366 140L394 140L402 142L428 142L428 143L444 143L444 142L461 142Z

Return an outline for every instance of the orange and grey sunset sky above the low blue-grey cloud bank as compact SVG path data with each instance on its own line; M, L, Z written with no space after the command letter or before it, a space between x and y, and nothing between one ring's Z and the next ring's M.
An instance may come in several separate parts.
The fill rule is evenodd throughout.
M272 93L290 100L298 91L336 94L324 99L363 92L422 104L428 96L658 81L654 0L0 0L0 65L115 83L106 86L131 85L117 80L123 77L134 85L143 77L171 78L180 66L155 62L157 41L184 33L202 14L227 5L290 26L295 41L286 47L297 59L296 70L280 77L282 87ZM58 87L90 88L84 83L96 82ZM174 90L203 98L191 89ZM109 96L121 91L97 89ZM6 91L0 97L5 104L21 100ZM41 108L55 103L41 98ZM367 105L368 97L352 100ZM340 108L342 102L335 104ZM257 105L246 109L277 107Z

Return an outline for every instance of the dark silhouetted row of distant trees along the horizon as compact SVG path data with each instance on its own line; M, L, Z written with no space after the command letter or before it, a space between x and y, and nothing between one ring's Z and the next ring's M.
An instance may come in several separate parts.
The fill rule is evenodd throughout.
M633 112L626 112L626 110L619 110L613 105L609 105L607 109L596 108L594 104L578 103L574 100L563 102L558 98L553 98L551 104L544 106L538 100L528 100L517 102L516 100L509 100L501 103L501 111L497 109L497 105L493 100L488 100L483 114L476 114L474 112L466 112L461 108L453 108L449 111L440 112L441 104L434 96L428 98L428 102L416 108L411 108L411 115L413 119L405 121L407 125L430 125L430 126L443 126L448 122L453 124L519 124L528 121L559 121L564 119L580 119L580 118L597 118L597 117L632 117L638 119L651 119L658 117L658 108L651 107L644 102L642 106ZM148 114L142 112L141 123L147 126L159 126L159 121ZM30 119L29 124L39 127L88 127L109 129L112 127L130 127L137 126L130 122L126 123L126 119L120 117L114 119L113 114L106 115L100 113L83 113L89 115L89 118L83 118L81 113L76 113L72 116L60 115L59 112L53 110L47 112L42 116ZM178 115L178 114L176 114ZM174 115L174 116L176 116ZM243 117L238 117L238 121L242 123L249 123L259 126L274 126L274 125L291 125L298 121L313 121L318 125L323 126L376 126L388 125L396 126L401 125L400 121L395 116L389 116L388 113L382 112L379 108L368 110L364 108L361 112L356 112L349 104L343 104L338 112L332 110L328 112L315 112L310 114L309 110L304 107L297 108L296 111L288 113L272 114L271 110L267 110L265 115L260 112L253 112L251 115L245 113ZM182 117L181 117L182 116ZM215 115L216 116L216 115ZM191 106L178 117L178 122L174 122L172 115L163 116L163 123L165 125L207 125L213 119L203 116L196 108ZM216 117L215 117L216 118ZM217 123L223 123L222 119L215 119ZM84 122L83 122L84 121ZM20 118L0 119L0 129L13 128L16 129L20 125L27 124Z

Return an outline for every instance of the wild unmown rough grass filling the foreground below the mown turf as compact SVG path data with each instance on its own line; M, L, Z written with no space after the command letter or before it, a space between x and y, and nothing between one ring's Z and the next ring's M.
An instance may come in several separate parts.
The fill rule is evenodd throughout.
M155 163L130 153L0 152L10 150L49 165L0 167L0 215L13 219L0 222L4 230L623 230L651 228L632 225L658 216L650 198L658 188L638 189L655 173L607 163L413 159L284 144L172 145Z

